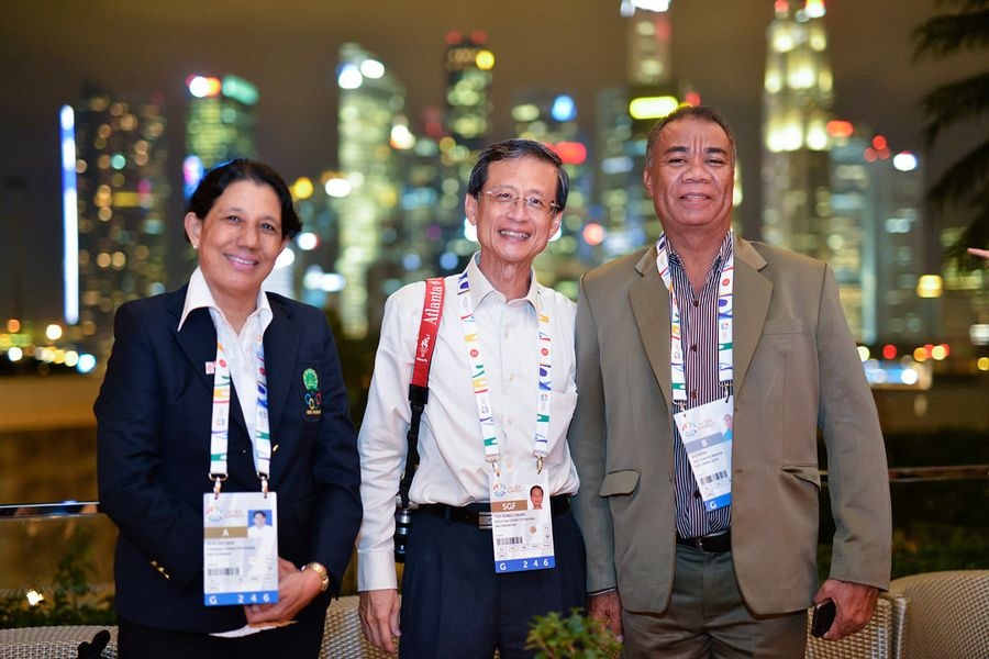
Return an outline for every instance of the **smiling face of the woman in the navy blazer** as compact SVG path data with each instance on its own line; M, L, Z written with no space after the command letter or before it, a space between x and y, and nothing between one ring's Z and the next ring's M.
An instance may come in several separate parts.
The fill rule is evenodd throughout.
M186 233L199 250L199 267L220 309L257 300L262 282L288 242L281 235L281 205L265 183L230 183L205 217L186 214Z

